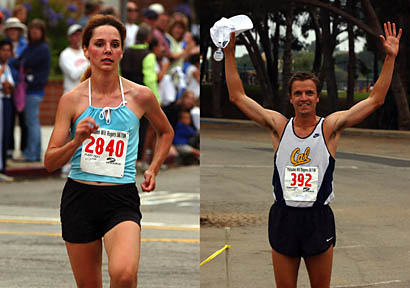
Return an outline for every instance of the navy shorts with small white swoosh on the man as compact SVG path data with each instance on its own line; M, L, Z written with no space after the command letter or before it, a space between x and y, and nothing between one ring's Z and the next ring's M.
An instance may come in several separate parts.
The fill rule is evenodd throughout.
M297 208L274 203L268 230L272 249L290 257L319 255L336 245L335 218L329 205Z

